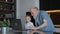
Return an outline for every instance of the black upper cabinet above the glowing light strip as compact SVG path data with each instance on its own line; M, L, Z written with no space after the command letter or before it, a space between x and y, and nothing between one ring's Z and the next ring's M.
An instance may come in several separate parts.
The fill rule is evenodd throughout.
M60 9L60 0L40 0L40 10Z

